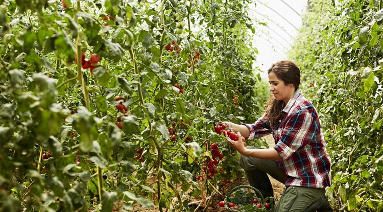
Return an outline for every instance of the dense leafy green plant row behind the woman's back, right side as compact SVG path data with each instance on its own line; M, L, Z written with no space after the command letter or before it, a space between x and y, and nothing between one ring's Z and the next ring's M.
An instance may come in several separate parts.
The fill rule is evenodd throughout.
M380 1L310 1L290 52L322 116L326 195L341 211L383 209L382 14Z

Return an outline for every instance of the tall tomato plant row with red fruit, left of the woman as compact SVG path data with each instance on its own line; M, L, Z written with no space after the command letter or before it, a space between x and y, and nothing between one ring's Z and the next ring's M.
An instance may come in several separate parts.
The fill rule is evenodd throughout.
M197 182L266 100L249 3L0 1L0 210L182 210L237 175L222 143Z

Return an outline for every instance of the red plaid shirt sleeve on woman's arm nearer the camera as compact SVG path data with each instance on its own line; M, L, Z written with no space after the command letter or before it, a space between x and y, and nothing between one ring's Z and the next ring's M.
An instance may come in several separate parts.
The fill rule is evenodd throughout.
M294 152L312 140L318 131L314 112L299 110L288 119L281 138L274 147L285 160L288 160Z

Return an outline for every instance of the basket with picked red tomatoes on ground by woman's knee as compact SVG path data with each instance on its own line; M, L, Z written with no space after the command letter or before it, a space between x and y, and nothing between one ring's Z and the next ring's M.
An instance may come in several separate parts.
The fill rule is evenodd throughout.
M233 187L227 194L225 201L219 203L230 212L239 211L273 211L274 198L262 196L255 187L239 185Z

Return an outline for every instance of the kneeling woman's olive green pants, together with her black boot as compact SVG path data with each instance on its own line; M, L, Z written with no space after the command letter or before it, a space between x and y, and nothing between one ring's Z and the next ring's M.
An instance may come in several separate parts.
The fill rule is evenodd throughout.
M260 149L248 146L248 149ZM273 196L271 183L267 174L284 184L285 174L279 169L274 160L259 159L240 155L240 166L245 170L249 184L256 187L264 197ZM310 204L317 201L325 193L325 189L315 189L300 186L287 186L278 203L276 212L302 212Z

